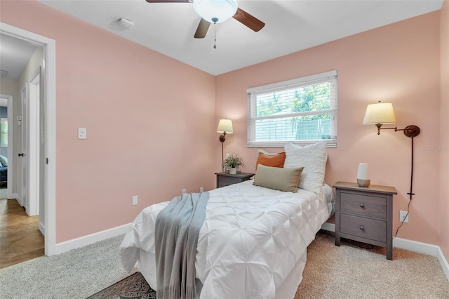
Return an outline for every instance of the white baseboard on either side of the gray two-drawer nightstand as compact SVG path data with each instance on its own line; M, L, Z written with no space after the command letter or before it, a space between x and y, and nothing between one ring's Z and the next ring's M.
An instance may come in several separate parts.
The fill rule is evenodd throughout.
M335 224L325 222L321 226L321 230L335 232ZM440 262L441 269L443 269L443 272L449 281L449 263L448 260L445 258L443 251L441 251L440 246L396 237L393 239L393 247L402 248L417 253L423 253L438 258L438 262Z

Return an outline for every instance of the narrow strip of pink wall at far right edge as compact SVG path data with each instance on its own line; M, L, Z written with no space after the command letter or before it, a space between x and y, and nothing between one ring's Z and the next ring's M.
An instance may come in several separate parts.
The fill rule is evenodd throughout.
M440 219L441 250L449 260L449 1L441 9L441 133L440 133Z

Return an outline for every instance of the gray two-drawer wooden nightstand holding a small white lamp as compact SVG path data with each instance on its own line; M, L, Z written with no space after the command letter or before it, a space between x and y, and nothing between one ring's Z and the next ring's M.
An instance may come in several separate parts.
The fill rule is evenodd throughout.
M393 195L394 187L370 185L358 187L355 182L336 182L335 245L340 238L387 248L387 259L393 260Z

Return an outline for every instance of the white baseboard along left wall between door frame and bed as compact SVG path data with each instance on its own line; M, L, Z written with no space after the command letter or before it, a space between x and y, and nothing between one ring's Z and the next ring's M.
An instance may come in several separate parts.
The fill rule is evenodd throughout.
M54 253L52 253L52 255L65 253L65 252L75 249L75 248L80 248L83 246L93 244L98 241L102 241L105 239L119 236L120 234L125 234L126 232L128 232L130 226L131 226L131 223L128 223L126 225L114 227L109 230L103 230L102 232L95 232L95 234L88 234L87 236L83 236L83 237L79 237L76 239L72 239L69 241L55 244L55 251L54 251Z

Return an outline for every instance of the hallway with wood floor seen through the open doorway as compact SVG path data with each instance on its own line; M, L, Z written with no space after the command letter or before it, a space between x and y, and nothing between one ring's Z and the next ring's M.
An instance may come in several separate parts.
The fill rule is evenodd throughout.
M2 40L5 41L5 38ZM15 49L20 46L24 47L19 41L6 43L9 51L11 47ZM44 255L43 213L39 215L39 183L36 175L38 166L41 168L39 159L36 159L39 157L38 140L41 139L41 67L29 76L29 70L34 68L36 61L43 61L43 55L41 49L38 51L33 47L27 53L32 56L25 58L29 62L25 69L20 68L20 74L13 72L7 77L8 80L1 81L2 89L11 91L11 86L20 86L25 80L20 98L15 99L15 102L13 95L1 95L0 98L0 269ZM2 55L2 58L5 57ZM4 68L11 69L8 65ZM11 122L11 126L8 122ZM10 141L14 139L15 143ZM8 161L12 163L8 165ZM18 180L12 175L14 169L18 170ZM10 190L13 185L16 186L14 195L11 196L10 192L7 196L6 185Z

